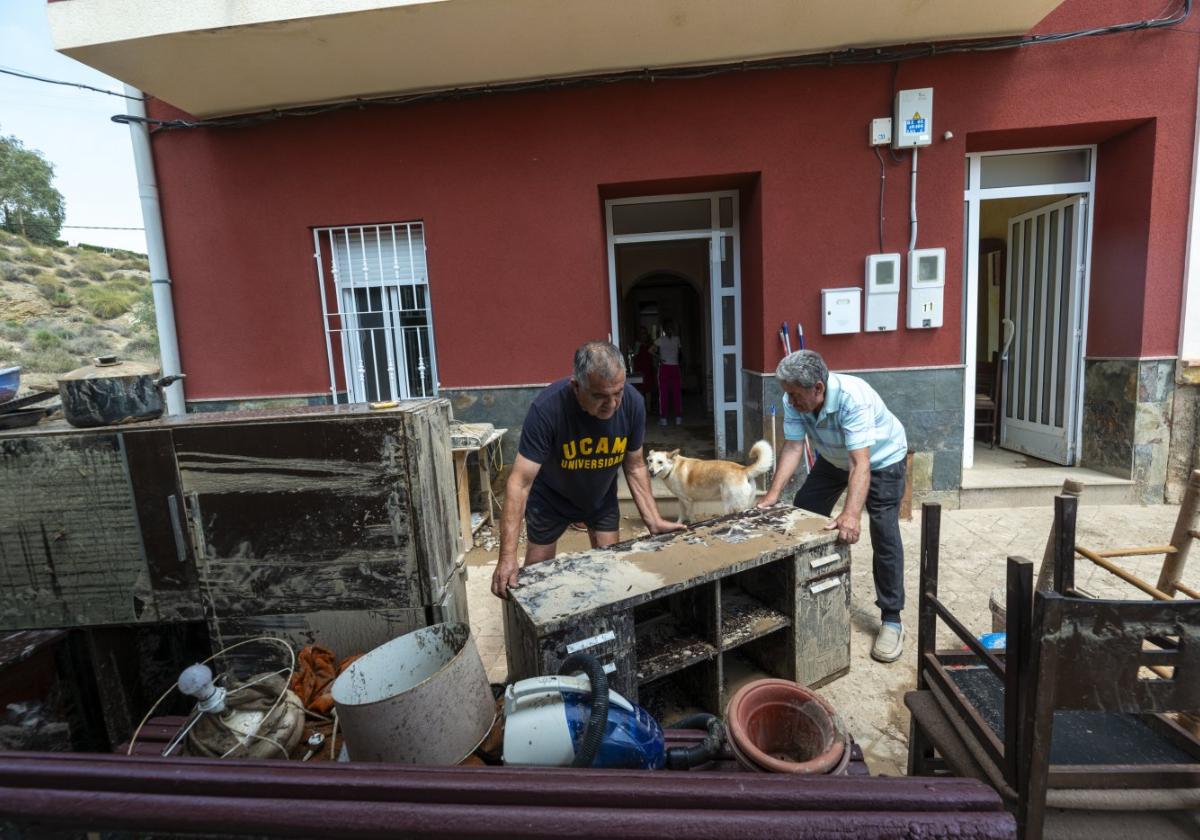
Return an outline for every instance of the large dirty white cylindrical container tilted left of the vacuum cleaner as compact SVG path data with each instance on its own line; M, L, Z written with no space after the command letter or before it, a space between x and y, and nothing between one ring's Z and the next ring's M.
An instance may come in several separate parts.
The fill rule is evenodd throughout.
M457 764L496 720L467 624L434 624L379 646L331 692L350 761Z

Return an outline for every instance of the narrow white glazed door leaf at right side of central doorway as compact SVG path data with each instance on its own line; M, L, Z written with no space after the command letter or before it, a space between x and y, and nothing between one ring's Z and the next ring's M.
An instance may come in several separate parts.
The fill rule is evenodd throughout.
M709 240L713 310L713 413L716 457L742 450L742 294L733 235Z

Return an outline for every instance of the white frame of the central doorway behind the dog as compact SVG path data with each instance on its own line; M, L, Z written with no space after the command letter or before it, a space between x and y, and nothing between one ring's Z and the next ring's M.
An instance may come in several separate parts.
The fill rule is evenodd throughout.
M732 226L721 227L721 202L722 198L732 199ZM625 204L656 204L662 202L679 202L679 200L695 200L695 199L709 199L709 227L695 229L695 230L667 230L661 233L636 233L636 234L614 234L612 232L612 209L618 205ZM624 245L626 242L667 242L678 240L700 240L706 239L709 241L709 277L708 277L708 301L709 301L709 347L708 353L712 359L713 365L713 436L716 440L718 455L724 455L726 450L740 450L742 449L742 426L738 422L738 439L731 442L728 445L725 440L725 412L721 408L724 402L724 360L721 359L721 338L720 338L720 274L716 271L719 269L720 258L719 254L714 253L714 242L719 242L721 235L731 235L733 238L733 317L737 322L734 337L737 340L737 359L738 359L738 371L737 371L737 410L739 420L743 418L743 394L742 394L742 234L740 234L740 218L738 212L738 191L737 190L720 190L716 192L690 192L690 193L673 193L670 196L637 196L636 198L613 198L604 203L605 210L605 235L607 240L608 251L608 319L610 319L610 340L620 344L620 332L619 332L619 300L617 295L617 246Z

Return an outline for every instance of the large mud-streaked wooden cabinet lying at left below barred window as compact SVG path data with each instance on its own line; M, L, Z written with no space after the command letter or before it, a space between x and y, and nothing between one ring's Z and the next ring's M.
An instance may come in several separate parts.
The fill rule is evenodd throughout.
M0 630L203 619L366 650L466 620L449 408L0 434Z

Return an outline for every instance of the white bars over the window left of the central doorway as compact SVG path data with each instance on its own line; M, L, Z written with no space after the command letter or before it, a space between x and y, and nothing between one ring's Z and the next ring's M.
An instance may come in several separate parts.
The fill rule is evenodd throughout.
M314 228L312 236L334 402L433 395L425 226Z

